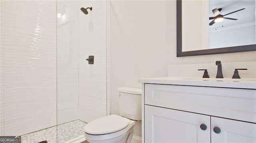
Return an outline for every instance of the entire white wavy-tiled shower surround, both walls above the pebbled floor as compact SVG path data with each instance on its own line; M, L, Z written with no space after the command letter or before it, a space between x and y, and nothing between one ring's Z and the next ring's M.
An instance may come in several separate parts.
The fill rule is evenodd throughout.
M57 11L60 18L56 3L65 7ZM80 11L91 6L88 15ZM107 6L107 1L1 0L0 135L109 114ZM89 55L94 65L85 60Z

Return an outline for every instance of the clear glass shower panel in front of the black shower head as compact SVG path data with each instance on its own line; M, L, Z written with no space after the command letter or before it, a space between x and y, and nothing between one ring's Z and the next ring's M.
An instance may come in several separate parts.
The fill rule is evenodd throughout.
M106 8L107 1L57 0L59 143L83 139L86 123L107 114Z

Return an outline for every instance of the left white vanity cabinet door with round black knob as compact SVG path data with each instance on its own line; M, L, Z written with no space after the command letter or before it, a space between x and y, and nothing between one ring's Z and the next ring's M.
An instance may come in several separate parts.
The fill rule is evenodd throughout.
M210 116L145 105L144 123L146 143L210 143Z

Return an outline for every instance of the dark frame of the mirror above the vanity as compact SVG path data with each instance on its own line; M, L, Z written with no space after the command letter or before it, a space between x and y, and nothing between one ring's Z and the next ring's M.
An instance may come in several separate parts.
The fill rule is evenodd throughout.
M256 44L182 52L182 0L177 2L177 57L256 51Z

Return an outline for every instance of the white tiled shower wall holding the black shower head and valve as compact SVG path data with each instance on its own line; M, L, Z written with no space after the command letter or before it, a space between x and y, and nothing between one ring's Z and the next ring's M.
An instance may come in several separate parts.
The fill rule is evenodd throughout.
M104 117L109 88L108 1L79 1L79 119L85 122ZM85 15L80 8L92 7ZM85 59L94 55L94 65ZM108 57L107 57L108 55ZM107 88L108 86L108 88ZM109 91L109 90L108 90ZM110 108L108 108L109 110Z

